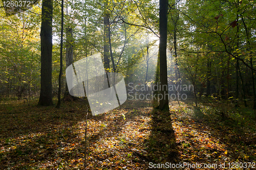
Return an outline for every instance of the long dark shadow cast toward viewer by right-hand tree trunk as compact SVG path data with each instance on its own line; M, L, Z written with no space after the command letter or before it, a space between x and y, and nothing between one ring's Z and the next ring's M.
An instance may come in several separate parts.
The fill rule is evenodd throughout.
M145 140L151 162L150 168L170 168L170 163L179 163L180 156L169 112L153 110L151 135Z

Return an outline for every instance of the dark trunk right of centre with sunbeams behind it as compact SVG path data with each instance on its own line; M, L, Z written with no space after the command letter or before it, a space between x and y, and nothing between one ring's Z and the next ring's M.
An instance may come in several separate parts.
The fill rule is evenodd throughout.
M168 100L168 82L167 82L167 12L168 0L159 0L159 64L160 64L160 94L161 99L158 108L160 110L169 110Z

